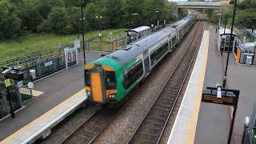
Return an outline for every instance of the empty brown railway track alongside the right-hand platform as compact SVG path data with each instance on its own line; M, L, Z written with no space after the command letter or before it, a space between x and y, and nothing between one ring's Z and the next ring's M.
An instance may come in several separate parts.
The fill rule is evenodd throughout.
M199 19L201 16L199 16ZM193 63L196 51L202 38L202 22L197 22L197 29L194 30L192 38L186 48L186 52L179 59L178 64L162 90L158 93L154 103L150 106L146 116L135 130L128 143L158 143L162 138L166 123L170 118L178 95L186 80L186 76Z

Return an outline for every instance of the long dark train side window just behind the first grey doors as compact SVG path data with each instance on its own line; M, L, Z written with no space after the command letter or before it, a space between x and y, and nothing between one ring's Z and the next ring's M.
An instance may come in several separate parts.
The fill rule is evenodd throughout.
M166 42L164 45L158 48L158 50L155 50L153 53L150 54L150 61L151 66L153 66L156 62L158 62L158 59L162 57L162 54L164 54L167 51L168 43Z

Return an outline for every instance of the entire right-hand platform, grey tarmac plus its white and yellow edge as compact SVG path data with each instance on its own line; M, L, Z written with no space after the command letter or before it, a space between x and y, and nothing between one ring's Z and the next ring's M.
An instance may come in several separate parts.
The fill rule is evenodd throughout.
M201 59L200 55L198 56L168 143L216 144L227 142L232 107L201 102L202 90L206 90L207 86L215 87L217 83L222 85L226 67L227 54L221 55L218 52L218 34L214 26L210 27L208 52L204 51L206 54L202 54L202 46L204 43L206 45L206 40L203 39L199 51L199 54L203 56L201 55ZM199 66L200 63L202 67ZM226 88L240 90L232 144L241 143L245 118L250 117L253 104L256 102L255 74L256 66L239 65L234 55L230 53Z

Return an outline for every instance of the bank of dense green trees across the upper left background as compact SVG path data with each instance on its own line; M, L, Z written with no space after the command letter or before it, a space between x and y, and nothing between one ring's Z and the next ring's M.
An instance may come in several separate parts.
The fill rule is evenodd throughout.
M150 26L174 21L168 0L83 0L83 29ZM27 33L76 34L81 27L81 0L0 0L0 38ZM158 10L159 13L155 13ZM134 14L137 15L134 15ZM184 11L186 14L186 11ZM102 16L102 19L95 16ZM6 18L8 16L8 18ZM80 19L80 20L79 20Z

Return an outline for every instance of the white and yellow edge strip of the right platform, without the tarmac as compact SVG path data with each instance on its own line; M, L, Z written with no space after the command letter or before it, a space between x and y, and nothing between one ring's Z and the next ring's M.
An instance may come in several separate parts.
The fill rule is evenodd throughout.
M203 82L206 72L207 54L209 48L209 31L205 30L198 58L196 59L186 93L178 110L174 126L171 130L168 144L193 143L198 113L202 96Z

